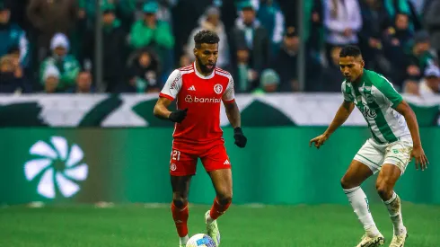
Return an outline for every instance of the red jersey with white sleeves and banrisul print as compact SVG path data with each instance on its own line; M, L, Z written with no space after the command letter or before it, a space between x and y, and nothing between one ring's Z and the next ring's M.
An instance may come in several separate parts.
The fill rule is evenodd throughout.
M176 99L177 109L188 108L187 117L174 125L173 146L224 143L220 128L221 102L233 102L233 76L220 68L211 75L198 73L196 64L172 72L160 97Z

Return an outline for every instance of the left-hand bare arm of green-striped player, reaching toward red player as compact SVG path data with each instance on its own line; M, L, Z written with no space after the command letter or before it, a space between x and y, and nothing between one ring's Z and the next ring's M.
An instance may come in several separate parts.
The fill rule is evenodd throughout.
M353 102L343 101L339 107L339 110L336 112L335 118L331 121L329 128L327 128L327 130L321 136L312 138L312 140L309 142L309 146L312 146L314 143L314 146L319 149L320 146L323 145L324 142L330 137L330 135L345 123L354 108L355 104Z

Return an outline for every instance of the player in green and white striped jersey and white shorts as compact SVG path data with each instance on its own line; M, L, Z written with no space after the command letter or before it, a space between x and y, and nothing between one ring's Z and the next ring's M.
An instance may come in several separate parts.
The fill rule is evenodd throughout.
M309 145L320 148L348 119L355 106L362 112L371 138L359 149L340 181L365 228L365 235L357 247L384 244L383 234L374 224L368 199L360 188L362 182L376 172L379 172L376 189L388 208L394 226L390 247L403 247L408 234L402 222L400 198L394 192L394 185L412 158L416 159L416 169L420 167L422 171L428 163L420 142L416 115L383 75L364 68L365 63L357 47L348 46L340 51L339 66L346 77L342 83L344 101L330 127L321 136L313 138Z

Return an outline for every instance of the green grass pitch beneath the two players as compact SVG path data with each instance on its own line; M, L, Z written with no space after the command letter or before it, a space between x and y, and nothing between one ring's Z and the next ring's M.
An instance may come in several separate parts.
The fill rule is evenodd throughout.
M405 246L440 244L440 206L403 204L409 230ZM189 207L189 234L205 231L209 206ZM392 223L382 204L371 205L374 220L386 239ZM363 228L349 206L232 206L218 220L224 247L355 246ZM179 246L170 209L163 207L93 206L0 208L0 246Z

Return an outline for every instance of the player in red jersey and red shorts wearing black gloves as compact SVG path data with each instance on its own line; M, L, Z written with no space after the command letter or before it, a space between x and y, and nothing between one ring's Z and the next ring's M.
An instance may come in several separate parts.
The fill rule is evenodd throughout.
M189 182L196 173L198 158L216 190L213 206L205 214L205 223L207 234L217 246L220 232L216 219L231 205L231 161L226 154L223 130L220 128L222 101L233 126L235 145L244 147L247 143L242 133L240 110L234 101L233 77L216 67L218 35L213 31L199 31L194 40L196 61L172 72L154 106L154 116L175 122L170 173L172 218L180 236L180 247L184 247L189 239ZM177 110L170 111L168 106L174 100Z

